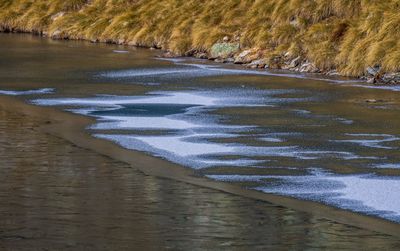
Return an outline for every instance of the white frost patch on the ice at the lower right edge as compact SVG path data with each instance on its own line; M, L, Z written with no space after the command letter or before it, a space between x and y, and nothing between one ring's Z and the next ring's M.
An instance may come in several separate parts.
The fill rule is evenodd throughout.
M256 190L314 200L400 222L400 178L376 175L208 175L226 182L262 182Z

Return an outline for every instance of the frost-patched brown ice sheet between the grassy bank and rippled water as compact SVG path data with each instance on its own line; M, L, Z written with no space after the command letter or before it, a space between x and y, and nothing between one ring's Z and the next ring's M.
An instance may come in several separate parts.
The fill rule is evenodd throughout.
M0 94L219 182L400 223L400 88L0 36Z

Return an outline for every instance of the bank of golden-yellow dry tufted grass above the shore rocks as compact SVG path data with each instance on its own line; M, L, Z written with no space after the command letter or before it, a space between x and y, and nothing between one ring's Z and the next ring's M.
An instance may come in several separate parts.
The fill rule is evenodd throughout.
M363 76L400 70L399 11L397 0L0 0L0 24L190 55L225 38L239 45L232 54L250 49L250 61L271 68L300 58Z

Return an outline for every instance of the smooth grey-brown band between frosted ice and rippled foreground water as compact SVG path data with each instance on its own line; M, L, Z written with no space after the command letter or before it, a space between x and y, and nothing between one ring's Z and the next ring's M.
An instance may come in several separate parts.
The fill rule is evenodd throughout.
M318 218L326 218L338 223L400 238L400 224L394 222L316 202L272 195L255 190L246 190L230 183L212 181L205 177L200 177L195 170L190 168L147 155L143 152L127 150L113 142L95 138L85 129L94 122L93 118L60 111L56 108L35 106L26 103L24 99L21 100L9 96L0 96L0 108L35 117L42 121L40 128L43 132L63 138L78 147L127 163L135 170L143 172L146 175L176 180L254 200L265 201L297 211L311 213Z

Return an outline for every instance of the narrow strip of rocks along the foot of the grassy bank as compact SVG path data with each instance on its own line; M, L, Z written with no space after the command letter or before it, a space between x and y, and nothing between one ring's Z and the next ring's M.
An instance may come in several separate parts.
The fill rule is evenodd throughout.
M3 28L2 28L3 27ZM397 75L395 73L388 73L389 77L385 77L386 74L382 74L380 72L380 69L376 67L369 67L367 69L366 75L365 76L360 76L360 77L349 77L345 75L340 75L336 70L330 70L330 71L321 71L312 62L309 62L306 59L303 58L290 58L286 59L286 62L283 62L282 59L280 59L282 62L280 62L279 67L273 67L269 65L267 62L265 62L264 59L261 58L252 58L251 60L245 59L248 54L250 54L251 49L249 50L239 50L238 52L234 54L229 53L229 54L218 54L217 55L212 55L213 53L207 53L207 52L202 52L202 51L196 51L196 50L191 50L189 51L190 53L185 53L182 55L176 54L170 50L165 50L161 47L157 47L156 45L153 46L147 46L147 45L139 45L139 44L129 44L126 41L122 40L115 40L115 39L106 39L106 40L100 40L100 39L86 39L86 38L74 38L71 36L54 36L54 35L48 35L47 32L44 31L39 31L39 30L31 30L31 31L26 31L26 30L21 30L19 28L4 28L4 25L0 24L0 33L10 33L10 34L30 34L32 36L38 36L41 38L47 38L51 40L73 40L73 41L84 41L88 43L102 43L102 44L113 44L113 45L121 45L121 46L127 46L127 47L134 47L134 48L144 48L144 49L150 49L150 50L159 50L160 54L158 55L159 58L161 59L179 59L183 57L187 58L193 58L193 59L204 59L208 60L210 62L214 62L217 64L221 65L226 65L226 64L232 64L232 65L237 65L240 66L243 69L249 69L249 70L271 70L271 71L283 71L286 72L287 74L314 74L316 76L321 76L321 78L326 78L329 80L329 77L339 77L339 78L350 78L351 80L349 81L354 81L357 83L364 83L364 84L372 84L372 86L376 87L390 87L390 86L400 86L400 81L397 81ZM229 46L231 42L230 41L223 41L221 43L216 43L216 45L221 45L221 46ZM245 56L243 56L245 55ZM286 56L283 56L282 58L285 58ZM239 58L239 62L237 59ZM247 60L247 61L246 61ZM302 63L301 63L302 62ZM295 66L293 66L295 64ZM393 76L392 76L393 75ZM387 79L385 79L387 78ZM393 78L393 79L392 79Z

